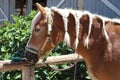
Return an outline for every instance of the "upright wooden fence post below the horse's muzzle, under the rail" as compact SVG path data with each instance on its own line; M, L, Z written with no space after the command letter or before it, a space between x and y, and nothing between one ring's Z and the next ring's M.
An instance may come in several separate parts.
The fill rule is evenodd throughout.
M25 66L22 69L22 80L35 80L34 68L34 65Z

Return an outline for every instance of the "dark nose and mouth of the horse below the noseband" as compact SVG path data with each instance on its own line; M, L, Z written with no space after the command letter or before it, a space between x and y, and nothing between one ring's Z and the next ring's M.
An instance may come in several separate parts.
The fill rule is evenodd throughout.
M39 56L36 54L33 54L29 51L25 51L25 58L27 59L28 62L32 62L33 64L35 64L38 60L39 60Z

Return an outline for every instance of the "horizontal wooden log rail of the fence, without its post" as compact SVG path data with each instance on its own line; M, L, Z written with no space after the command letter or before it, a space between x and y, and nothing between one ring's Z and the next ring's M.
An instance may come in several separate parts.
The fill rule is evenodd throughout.
M77 54L52 56L47 58L46 63L64 64L64 63L73 62L77 58L78 58ZM80 56L78 60L83 60L83 58ZM30 65L30 64L28 64L25 61L24 62L12 62L11 60L0 61L0 72L18 70L18 69L22 70L26 65ZM39 59L39 61L35 64L35 67L41 67L41 66L46 66L46 64L43 63L42 59Z

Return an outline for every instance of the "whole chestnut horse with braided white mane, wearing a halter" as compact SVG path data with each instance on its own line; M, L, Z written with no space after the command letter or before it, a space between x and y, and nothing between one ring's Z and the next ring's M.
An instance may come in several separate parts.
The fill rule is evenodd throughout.
M25 47L30 63L64 42L85 60L92 80L120 80L120 20L89 11L42 7Z

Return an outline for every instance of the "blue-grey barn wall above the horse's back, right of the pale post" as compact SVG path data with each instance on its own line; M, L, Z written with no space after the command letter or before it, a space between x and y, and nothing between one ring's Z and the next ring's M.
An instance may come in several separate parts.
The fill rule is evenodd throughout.
M84 0L84 4L83 4L83 8L84 10L88 10L92 13L95 14L99 14L99 15L103 15L109 18L119 18L119 13L115 13L114 11L112 11L108 6L112 7L111 4L107 4L108 6L106 6L103 2L104 0ZM120 5L118 5L120 3L120 0L105 0L105 1L109 1L110 3L112 3L116 8L120 9ZM115 10L115 9L113 9ZM119 12L119 11L118 11Z

